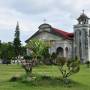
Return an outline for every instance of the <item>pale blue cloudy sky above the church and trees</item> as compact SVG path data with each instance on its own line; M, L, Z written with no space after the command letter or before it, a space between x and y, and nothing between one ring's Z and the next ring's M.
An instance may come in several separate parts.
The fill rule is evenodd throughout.
M90 0L0 0L0 40L13 41L17 21L22 44L44 19L52 27L73 32L83 9L90 16Z

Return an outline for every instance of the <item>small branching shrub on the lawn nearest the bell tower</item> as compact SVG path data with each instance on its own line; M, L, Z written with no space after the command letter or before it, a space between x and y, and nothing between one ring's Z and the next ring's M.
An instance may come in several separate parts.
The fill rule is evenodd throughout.
M65 58L58 57L57 64L59 66L59 70L63 76L63 81L65 84L69 84L69 77L80 70L80 61L78 59L75 60L66 60Z

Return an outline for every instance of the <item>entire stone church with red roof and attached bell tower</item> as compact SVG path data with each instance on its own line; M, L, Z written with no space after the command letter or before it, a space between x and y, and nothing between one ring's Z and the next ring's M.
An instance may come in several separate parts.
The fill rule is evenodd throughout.
M78 57L82 62L90 61L90 24L89 18L82 13L74 25L73 33L56 29L49 24L41 24L39 30L26 40L40 39L50 44L49 53L66 58ZM27 54L30 49L27 48Z

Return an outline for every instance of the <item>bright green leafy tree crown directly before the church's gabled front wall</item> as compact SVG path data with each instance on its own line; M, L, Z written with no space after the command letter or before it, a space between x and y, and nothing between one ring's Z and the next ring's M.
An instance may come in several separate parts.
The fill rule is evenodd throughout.
M39 39L30 40L27 44L27 48L32 51L31 55L36 60L38 60L38 57L39 59L43 59L48 53L48 45Z

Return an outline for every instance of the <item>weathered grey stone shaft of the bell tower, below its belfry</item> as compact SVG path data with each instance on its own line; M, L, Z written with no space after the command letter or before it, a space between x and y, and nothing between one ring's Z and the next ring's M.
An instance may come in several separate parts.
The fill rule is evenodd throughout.
M74 32L81 32L80 33L75 33L74 41L75 41L75 46L77 48L76 50L76 56L80 57L81 54L81 59L83 62L86 62L87 60L90 60L90 47L89 47L89 24L85 25L75 25L74 26ZM81 46L80 43L81 42ZM80 51L81 49L81 51Z

